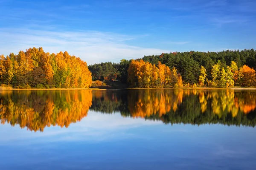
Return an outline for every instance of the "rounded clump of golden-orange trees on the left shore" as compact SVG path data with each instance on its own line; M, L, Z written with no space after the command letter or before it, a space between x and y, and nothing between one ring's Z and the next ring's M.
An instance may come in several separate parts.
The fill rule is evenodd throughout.
M0 83L13 88L89 88L92 84L87 63L43 48L29 48L15 55L0 56Z

